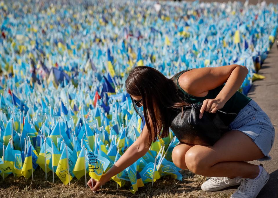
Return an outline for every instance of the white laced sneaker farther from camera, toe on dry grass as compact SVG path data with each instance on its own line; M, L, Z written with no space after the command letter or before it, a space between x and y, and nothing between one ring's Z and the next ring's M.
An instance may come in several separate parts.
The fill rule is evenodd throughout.
M227 188L229 186L237 186L240 184L242 177L230 179L229 177L211 177L201 186L201 189L206 192L212 192Z

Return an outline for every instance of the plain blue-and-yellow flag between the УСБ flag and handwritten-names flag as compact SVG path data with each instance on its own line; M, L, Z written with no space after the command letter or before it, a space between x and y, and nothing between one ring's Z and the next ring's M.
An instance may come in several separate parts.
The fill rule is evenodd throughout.
M80 179L83 175L85 175L85 165L86 165L86 173L87 173L88 158L86 157L85 154L85 147L82 146L82 149L79 153L74 169L72 171L77 179Z

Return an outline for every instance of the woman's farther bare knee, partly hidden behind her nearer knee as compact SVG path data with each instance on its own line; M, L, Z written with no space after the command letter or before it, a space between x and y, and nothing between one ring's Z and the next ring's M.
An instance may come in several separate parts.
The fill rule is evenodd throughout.
M195 145L179 143L177 146L174 147L172 151L172 160L177 167L181 169L188 169L185 163L185 154L192 146Z

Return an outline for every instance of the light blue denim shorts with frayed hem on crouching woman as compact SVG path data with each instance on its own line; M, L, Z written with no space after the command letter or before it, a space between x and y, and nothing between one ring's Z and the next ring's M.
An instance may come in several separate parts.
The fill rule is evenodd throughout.
M260 160L270 159L268 153L274 142L275 129L268 115L259 107L257 102L251 100L239 111L237 117L228 127L248 135L257 144L265 155Z

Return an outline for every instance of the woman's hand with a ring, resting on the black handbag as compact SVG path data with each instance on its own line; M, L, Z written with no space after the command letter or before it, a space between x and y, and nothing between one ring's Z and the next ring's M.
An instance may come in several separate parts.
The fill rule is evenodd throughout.
M203 101L203 105L200 110L199 118L203 117L203 113L208 111L209 113L216 113L218 109L222 109L225 105L225 101L221 99L206 99Z

